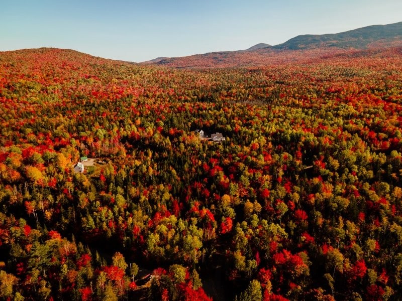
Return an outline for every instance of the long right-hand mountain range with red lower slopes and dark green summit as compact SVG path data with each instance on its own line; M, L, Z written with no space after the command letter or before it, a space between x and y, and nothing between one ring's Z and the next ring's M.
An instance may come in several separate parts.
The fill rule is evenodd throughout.
M337 34L301 35L271 46L260 43L246 50L221 51L177 58L157 58L142 64L177 68L261 66L276 62L300 61L318 56L341 54L345 49L399 47L402 45L402 22L372 25ZM324 50L325 53L318 50ZM304 54L292 51L307 51ZM285 52L283 52L285 51Z

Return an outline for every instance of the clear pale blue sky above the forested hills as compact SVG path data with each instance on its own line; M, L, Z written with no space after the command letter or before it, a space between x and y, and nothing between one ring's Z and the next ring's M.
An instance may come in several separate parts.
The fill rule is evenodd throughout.
M0 51L141 62L402 21L402 0L0 0Z

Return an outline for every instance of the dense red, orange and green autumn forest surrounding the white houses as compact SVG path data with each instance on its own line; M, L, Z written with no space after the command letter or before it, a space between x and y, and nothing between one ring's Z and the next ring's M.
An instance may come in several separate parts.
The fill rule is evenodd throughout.
M401 72L0 52L0 298L402 299Z

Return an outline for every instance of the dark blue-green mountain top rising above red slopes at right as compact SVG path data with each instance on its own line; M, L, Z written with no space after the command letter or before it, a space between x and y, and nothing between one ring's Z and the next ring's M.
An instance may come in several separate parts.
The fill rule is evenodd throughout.
M317 47L339 47L364 49L375 43L389 43L402 40L402 22L388 25L372 25L338 34L301 35L274 49L309 49Z

